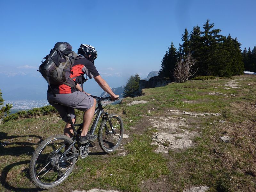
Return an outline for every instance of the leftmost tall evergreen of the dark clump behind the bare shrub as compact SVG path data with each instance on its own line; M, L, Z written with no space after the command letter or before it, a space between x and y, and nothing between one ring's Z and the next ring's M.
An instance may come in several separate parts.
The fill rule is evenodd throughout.
M159 71L159 76L170 77L174 81L173 71L177 62L177 50L174 47L173 42L168 48L168 53L166 52L162 60L161 69Z

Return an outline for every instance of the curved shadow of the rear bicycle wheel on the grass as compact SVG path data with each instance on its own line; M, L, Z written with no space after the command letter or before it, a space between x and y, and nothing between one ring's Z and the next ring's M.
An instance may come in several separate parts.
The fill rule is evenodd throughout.
M42 191L43 189L40 189L40 188L17 188L6 182L8 172L12 170L12 168L14 168L15 166L22 165L22 164L29 164L29 160L9 164L6 167L4 167L4 169L1 172L1 184L4 186L4 188L10 191L24 191L24 192ZM25 172L26 177L28 177L29 175L28 168L26 168L22 172Z

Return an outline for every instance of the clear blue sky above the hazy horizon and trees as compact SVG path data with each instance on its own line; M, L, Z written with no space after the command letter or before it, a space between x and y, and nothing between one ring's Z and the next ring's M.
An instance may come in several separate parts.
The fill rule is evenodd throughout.
M13 88L45 94L47 83L36 69L58 41L70 43L74 51L80 44L96 47L95 66L111 87L122 86L135 73L145 78L159 70L171 41L178 49L184 29L202 29L207 19L222 35L237 37L241 49L256 44L254 0L2 0L0 6L5 100ZM93 80L86 84L89 92L101 92ZM22 91L14 95L20 97Z

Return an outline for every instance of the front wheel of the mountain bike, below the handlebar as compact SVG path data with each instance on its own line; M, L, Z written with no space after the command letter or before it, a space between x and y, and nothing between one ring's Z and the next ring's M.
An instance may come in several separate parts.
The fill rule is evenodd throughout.
M102 123L100 124L98 138L100 148L107 153L111 153L118 148L122 141L124 124L120 116L116 114L109 114L108 116L113 125L115 133L113 133L108 120L103 119Z

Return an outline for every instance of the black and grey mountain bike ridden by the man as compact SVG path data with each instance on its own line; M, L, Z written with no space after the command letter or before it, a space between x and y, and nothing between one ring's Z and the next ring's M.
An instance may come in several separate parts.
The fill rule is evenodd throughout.
M100 148L106 153L111 153L122 141L123 121L120 116L104 111L101 102L110 101L111 97L91 96L97 100L98 107L95 109L94 116L96 117L89 133L94 134L101 118L102 122L98 132ZM39 188L50 189L59 185L67 179L79 157L85 158L89 154L90 142L83 145L77 142L83 123L73 124L70 114L67 116L73 129L72 137L69 138L62 134L51 136L39 144L31 157L29 174L32 182ZM76 127L78 127L77 130Z

